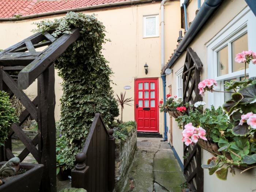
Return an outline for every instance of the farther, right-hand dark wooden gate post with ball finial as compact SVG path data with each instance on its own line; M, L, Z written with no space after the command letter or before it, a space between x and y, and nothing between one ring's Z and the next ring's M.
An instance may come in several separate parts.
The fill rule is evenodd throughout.
M108 130L109 133L109 163L108 163L108 191L113 191L115 186L115 138L113 129Z

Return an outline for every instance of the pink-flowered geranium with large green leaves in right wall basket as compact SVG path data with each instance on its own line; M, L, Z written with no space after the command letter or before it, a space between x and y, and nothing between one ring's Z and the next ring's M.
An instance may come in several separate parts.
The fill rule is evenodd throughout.
M256 64L255 58L256 53L250 50L238 53L235 60L238 63L245 63L246 67L246 63L249 64L251 61ZM203 94L206 90L215 91L214 86L217 86L214 79L206 79L199 83L198 88L200 94ZM246 79L245 72L244 80L231 80L225 83L225 87L227 91L232 90L232 95L222 106L224 114L220 114L219 111L214 120L214 116L207 115L209 109L205 109L201 115L191 116L191 119L188 117L184 121L199 122L199 125L206 129L205 134L201 131L205 138L199 135L203 128L195 128L192 124L187 124L182 132L182 140L186 145L197 143L198 139L218 144L217 153L205 148L215 154L215 157L210 158L202 167L209 169L210 175L216 173L222 180L226 180L228 169L234 175L234 167L242 169L241 173L256 167L256 77ZM216 125L211 127L211 123Z

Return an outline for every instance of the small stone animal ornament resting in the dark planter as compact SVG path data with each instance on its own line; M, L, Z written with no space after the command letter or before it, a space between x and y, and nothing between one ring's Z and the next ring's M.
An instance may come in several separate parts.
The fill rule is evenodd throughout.
M0 176L3 176L3 177L13 176L19 170L19 162L20 162L20 159L18 157L11 158L0 169Z

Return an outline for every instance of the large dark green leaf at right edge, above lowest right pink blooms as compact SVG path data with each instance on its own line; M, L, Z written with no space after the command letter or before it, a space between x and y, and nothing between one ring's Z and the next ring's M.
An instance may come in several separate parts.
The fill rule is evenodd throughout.
M241 104L251 103L256 100L256 84L251 84L241 88L238 93L242 94Z

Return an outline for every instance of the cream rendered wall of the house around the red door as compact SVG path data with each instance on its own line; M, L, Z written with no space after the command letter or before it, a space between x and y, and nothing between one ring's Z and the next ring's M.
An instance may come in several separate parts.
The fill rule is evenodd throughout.
M118 7L97 11L84 11L85 14L97 14L97 18L103 22L106 27L106 38L111 42L104 45L103 54L110 62L113 69L112 79L114 92L120 94L124 92L124 86L129 85L132 88L126 90L126 97L134 98L134 79L135 78L159 78L159 99L163 98L161 71L161 31L160 31L160 2L141 4L129 7ZM143 38L143 15L159 14L159 37ZM34 22L42 19L60 18L53 16L49 18L23 20L19 22L1 22L0 49L9 46L29 37ZM176 48L178 30L180 29L180 2L172 1L165 4L165 62L169 54ZM147 63L148 74L145 75L144 64ZM61 78L55 78L56 108L55 119L60 118L60 102L62 95ZM29 87L29 92L36 95L36 83ZM132 103L134 104L134 103ZM158 101L156 101L156 105ZM119 117L120 118L120 117ZM134 120L134 106L125 106L123 120ZM163 114L159 112L159 132L163 134Z

